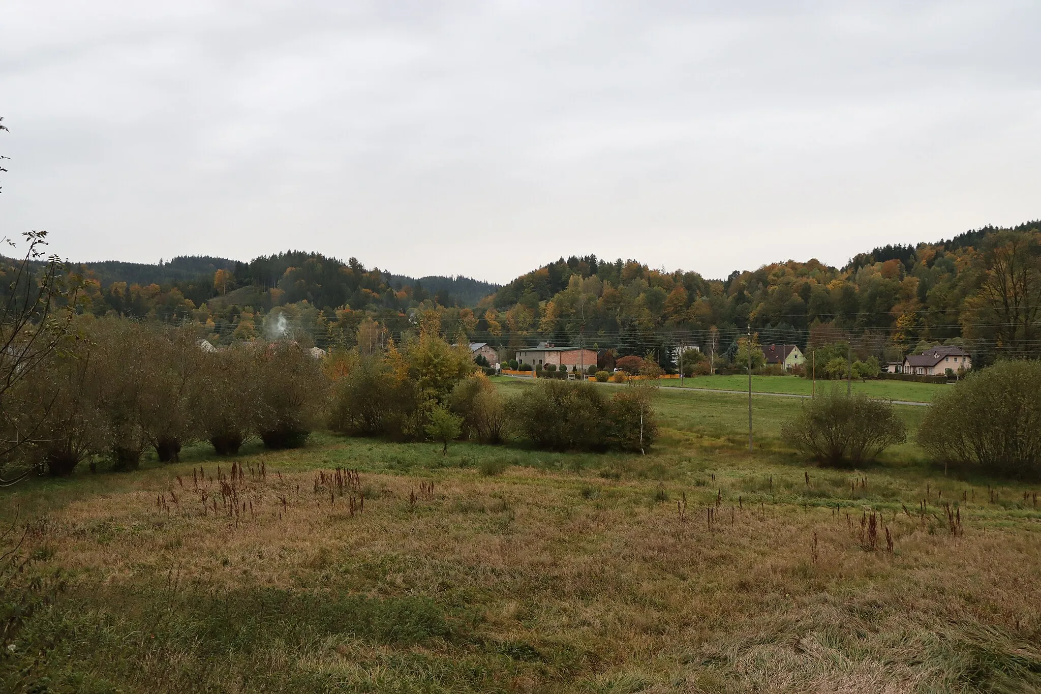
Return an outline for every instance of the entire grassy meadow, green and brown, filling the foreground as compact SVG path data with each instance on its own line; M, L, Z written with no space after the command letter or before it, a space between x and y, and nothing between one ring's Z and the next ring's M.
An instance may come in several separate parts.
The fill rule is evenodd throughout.
M1041 689L1036 488L913 443L806 464L779 439L799 407L755 397L753 454L745 399L662 390L644 456L315 434L33 479L0 520L62 585L0 689ZM912 438L925 410L898 407Z

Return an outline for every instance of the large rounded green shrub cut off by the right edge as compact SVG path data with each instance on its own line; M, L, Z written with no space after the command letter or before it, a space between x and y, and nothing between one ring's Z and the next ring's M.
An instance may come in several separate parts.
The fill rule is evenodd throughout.
M999 361L938 394L918 429L937 460L1041 474L1041 362Z

